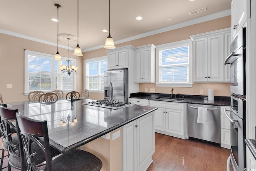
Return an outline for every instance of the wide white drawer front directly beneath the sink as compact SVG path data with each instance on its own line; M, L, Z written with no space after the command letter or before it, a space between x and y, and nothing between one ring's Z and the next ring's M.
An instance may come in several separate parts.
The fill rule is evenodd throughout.
M180 102L163 102L163 101L150 100L150 106L184 110L184 103L180 103Z

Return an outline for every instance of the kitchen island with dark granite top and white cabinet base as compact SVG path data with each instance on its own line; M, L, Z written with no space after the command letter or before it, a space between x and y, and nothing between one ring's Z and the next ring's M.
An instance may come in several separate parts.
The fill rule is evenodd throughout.
M129 131L132 129L132 127L130 126L134 123L136 123L134 124L134 128L138 130L136 131L136 134L134 134L134 137L138 135L141 135L143 137L145 135L149 135L147 134L147 132L152 132L152 135L150 134L149 136L147 136L147 138L151 138L152 140L146 141L147 143L152 142L152 145L154 145L153 113L154 110L156 110L157 108L131 105L115 110L85 105L84 103L88 103L88 101L92 100L82 99L70 102L64 99L58 100L56 103L49 105L39 102L16 102L10 103L11 106L9 105L8 107L18 108L21 114L30 118L36 120L47 120L50 144L62 153L68 150L75 149L77 147L82 148L82 145L92 142L93 140L96 140L102 136L106 136L110 132L118 132L119 129L120 133L116 133L114 135L114 138L112 134L110 136L106 136L105 138L108 141L112 142L118 140L118 137L122 138L122 140L120 141L122 143L122 149L120 152L122 163L124 165L126 161L130 161L129 159L127 160L127 158L126 161L124 161L123 159L124 152L126 152L126 147L124 147L124 143L128 142L127 144L130 144L130 140L134 140L134 143L136 144L134 144L134 146L130 146L131 148L134 148L134 152L139 151L140 147L148 147L148 145L142 144L142 142L145 143L145 141L138 142L138 140L140 139L139 137L136 137L135 140L134 138L127 139L127 137L124 138L121 136L122 134L130 135L131 132ZM63 121L67 120L68 116L71 117L71 120L72 118L76 118L77 122L72 124L69 124L68 122L63 123ZM144 118L146 118L146 122L143 122ZM148 123L150 119L152 120L152 122ZM148 128L143 128L144 125L149 126L151 130L148 130ZM127 126L129 126L128 129L121 129L122 127L127 128ZM112 139L110 139L110 137L112 137ZM125 156L129 158L131 157L130 154L132 152L130 150L128 152L129 154ZM153 153L154 146L152 146L151 152L149 154L152 156ZM142 157L143 156L144 155L142 154ZM101 156L99 158L102 159ZM107 159L107 157L104 157L102 160L103 164L106 163L108 165L105 170L110 170L108 169L110 168L109 165L111 165L111 162L113 162L110 161L111 156L109 159ZM134 165L136 165L137 168L137 166L139 166L140 164L137 164L134 161ZM145 164L143 163L143 166L144 165Z

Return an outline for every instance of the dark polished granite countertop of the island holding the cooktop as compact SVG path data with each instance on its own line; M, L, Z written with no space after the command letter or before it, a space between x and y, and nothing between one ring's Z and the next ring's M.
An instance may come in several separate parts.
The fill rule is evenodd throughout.
M20 114L29 118L47 120L50 143L62 153L91 142L157 109L134 104L114 110L85 105L88 101L92 100L70 102L65 99L49 105L16 102L10 103L8 107L18 109ZM68 115L76 116L78 121L70 130L59 124L60 118L67 118Z

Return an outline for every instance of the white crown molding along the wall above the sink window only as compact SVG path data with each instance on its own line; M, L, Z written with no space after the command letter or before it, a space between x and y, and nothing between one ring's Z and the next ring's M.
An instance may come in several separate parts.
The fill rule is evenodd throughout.
M210 21L210 20L214 20L214 19L217 19L217 18L222 18L222 17L226 17L226 16L230 16L230 15L231 15L231 9L225 10L225 11L222 11L222 12L217 12L217 13L214 13L214 14L210 14L208 16L203 16L203 17L200 17L200 18L196 18L196 19L193 19L193 20L189 20L187 22L182 22L182 23L179 23L179 24L175 24L173 26L168 26L168 27L165 27L165 28L160 28L160 29L156 29L156 30L153 30L153 31L148 31L146 33L142 33L142 34L135 35L135 36L132 36L132 37L128 37L128 38L125 38L125 39L114 41L114 43L115 44L124 43L124 42L127 42L127 41L140 39L140 38L147 37L147 36L150 36L150 35L163 33L163 32L171 31L171 30L178 29L178 28L183 28L183 27L186 27L186 26L191 26L191 25L194 25L194 24L199 24L199 23L202 23L202 22L207 22L207 21ZM99 46L90 47L90 48L87 48L87 49L83 49L82 52L87 52L87 51L100 49L103 46L104 45L102 44L102 45L99 45Z

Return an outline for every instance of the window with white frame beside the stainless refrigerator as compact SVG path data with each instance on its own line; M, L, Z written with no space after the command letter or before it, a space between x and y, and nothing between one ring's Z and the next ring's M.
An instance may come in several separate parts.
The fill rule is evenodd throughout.
M108 70L107 56L85 60L85 89L104 90L104 71Z

